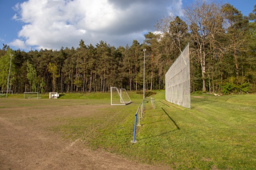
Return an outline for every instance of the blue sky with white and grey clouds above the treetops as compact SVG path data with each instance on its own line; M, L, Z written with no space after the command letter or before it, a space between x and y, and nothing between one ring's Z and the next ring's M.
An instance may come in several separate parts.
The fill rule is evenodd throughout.
M193 0L0 0L0 48L13 50L78 47L79 41L96 45L143 43L163 16L180 15ZM244 15L255 0L224 0Z

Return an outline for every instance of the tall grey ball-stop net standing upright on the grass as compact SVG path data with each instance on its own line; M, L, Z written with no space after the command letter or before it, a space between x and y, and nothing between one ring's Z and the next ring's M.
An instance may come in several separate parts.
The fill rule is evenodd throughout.
M165 75L166 100L190 108L189 44Z

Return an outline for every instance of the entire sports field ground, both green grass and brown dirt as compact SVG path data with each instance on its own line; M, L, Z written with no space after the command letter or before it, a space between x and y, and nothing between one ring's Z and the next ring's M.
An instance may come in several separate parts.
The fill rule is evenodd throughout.
M0 97L0 169L255 169L256 95L194 94L189 110L157 91L134 144L143 97L128 94L125 106L110 93Z

